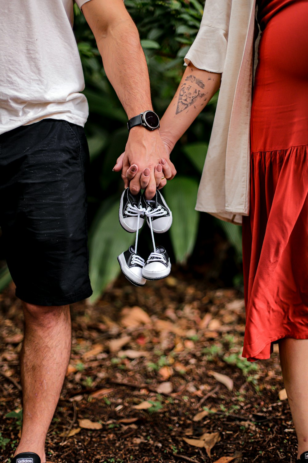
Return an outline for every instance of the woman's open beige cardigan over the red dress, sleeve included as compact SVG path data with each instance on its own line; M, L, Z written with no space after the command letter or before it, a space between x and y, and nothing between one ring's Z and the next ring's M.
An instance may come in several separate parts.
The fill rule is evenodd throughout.
M254 41L255 3L206 0L198 35L185 56L186 64L223 73L196 209L236 224L249 213L249 123L259 42Z

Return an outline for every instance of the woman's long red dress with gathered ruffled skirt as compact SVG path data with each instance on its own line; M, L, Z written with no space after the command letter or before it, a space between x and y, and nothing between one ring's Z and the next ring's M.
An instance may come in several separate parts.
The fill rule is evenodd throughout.
M308 1L259 0L250 124L250 215L243 218L243 357L308 339Z

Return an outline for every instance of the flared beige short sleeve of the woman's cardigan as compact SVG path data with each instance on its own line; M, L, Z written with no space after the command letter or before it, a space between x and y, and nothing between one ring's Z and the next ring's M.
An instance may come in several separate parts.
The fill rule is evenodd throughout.
M198 69L223 73L232 0L206 0L197 37L184 58Z

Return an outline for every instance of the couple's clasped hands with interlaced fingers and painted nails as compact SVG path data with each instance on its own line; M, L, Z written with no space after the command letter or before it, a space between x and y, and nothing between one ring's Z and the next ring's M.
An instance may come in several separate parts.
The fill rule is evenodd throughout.
M169 159L170 151L171 147L162 140L158 130L133 127L125 152L118 157L113 170L121 171L124 187L129 185L132 194L144 189L146 199L151 199L156 189L163 188L176 174Z

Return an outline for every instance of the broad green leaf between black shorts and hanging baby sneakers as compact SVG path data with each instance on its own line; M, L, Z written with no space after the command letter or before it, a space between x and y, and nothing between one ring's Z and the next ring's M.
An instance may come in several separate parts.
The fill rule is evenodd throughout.
M127 233L119 223L118 196L107 200L99 209L89 234L91 296L95 302L121 269L117 256L133 244L134 233Z

